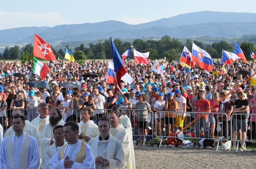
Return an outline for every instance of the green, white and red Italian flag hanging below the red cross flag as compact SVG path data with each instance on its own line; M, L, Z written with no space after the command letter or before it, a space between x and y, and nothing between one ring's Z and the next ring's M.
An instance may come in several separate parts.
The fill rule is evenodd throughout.
M49 73L49 67L33 57L33 73L40 76L41 79L45 79Z

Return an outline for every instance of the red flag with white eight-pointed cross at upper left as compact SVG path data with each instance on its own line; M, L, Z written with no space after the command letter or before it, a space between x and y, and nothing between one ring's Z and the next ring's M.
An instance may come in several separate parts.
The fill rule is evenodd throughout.
M39 57L41 59L56 61L56 57L53 53L51 45L49 45L49 43L44 41L40 36L38 36L36 34L34 37L33 55L35 57Z

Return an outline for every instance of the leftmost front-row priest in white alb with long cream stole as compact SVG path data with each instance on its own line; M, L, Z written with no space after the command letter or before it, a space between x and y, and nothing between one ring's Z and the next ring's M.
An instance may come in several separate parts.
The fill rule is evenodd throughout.
M6 137L0 148L1 168L37 169L40 158L37 139L23 132L25 127L24 116L13 116L12 126L15 133Z

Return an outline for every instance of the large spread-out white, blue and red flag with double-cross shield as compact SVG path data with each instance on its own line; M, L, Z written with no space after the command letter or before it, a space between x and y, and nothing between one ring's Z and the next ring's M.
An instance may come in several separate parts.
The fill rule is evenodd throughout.
M192 45L192 62L197 64L200 68L208 71L211 71L213 68L213 61L211 56L194 43Z

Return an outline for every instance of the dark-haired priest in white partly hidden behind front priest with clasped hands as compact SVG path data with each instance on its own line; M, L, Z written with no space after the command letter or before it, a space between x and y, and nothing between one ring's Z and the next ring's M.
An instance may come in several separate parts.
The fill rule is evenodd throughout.
M53 135L55 142L47 147L43 153L43 160L42 164L40 166L41 169L50 169L51 166L49 164L49 161L51 158L56 154L56 152L63 146L66 145L67 142L64 140L64 134L63 134L63 126L59 125L56 126L53 129Z

